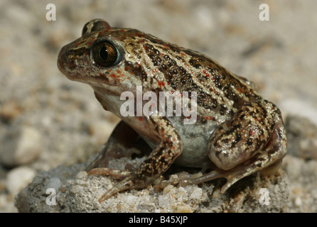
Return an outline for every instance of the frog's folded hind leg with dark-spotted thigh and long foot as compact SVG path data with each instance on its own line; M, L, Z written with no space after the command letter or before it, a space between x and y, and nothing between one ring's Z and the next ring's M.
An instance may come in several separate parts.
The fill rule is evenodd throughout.
M182 179L181 185L223 177L227 182L221 192L225 192L254 172L274 172L286 155L286 132L279 109L266 100L245 104L213 132L208 148L215 170L203 177Z

